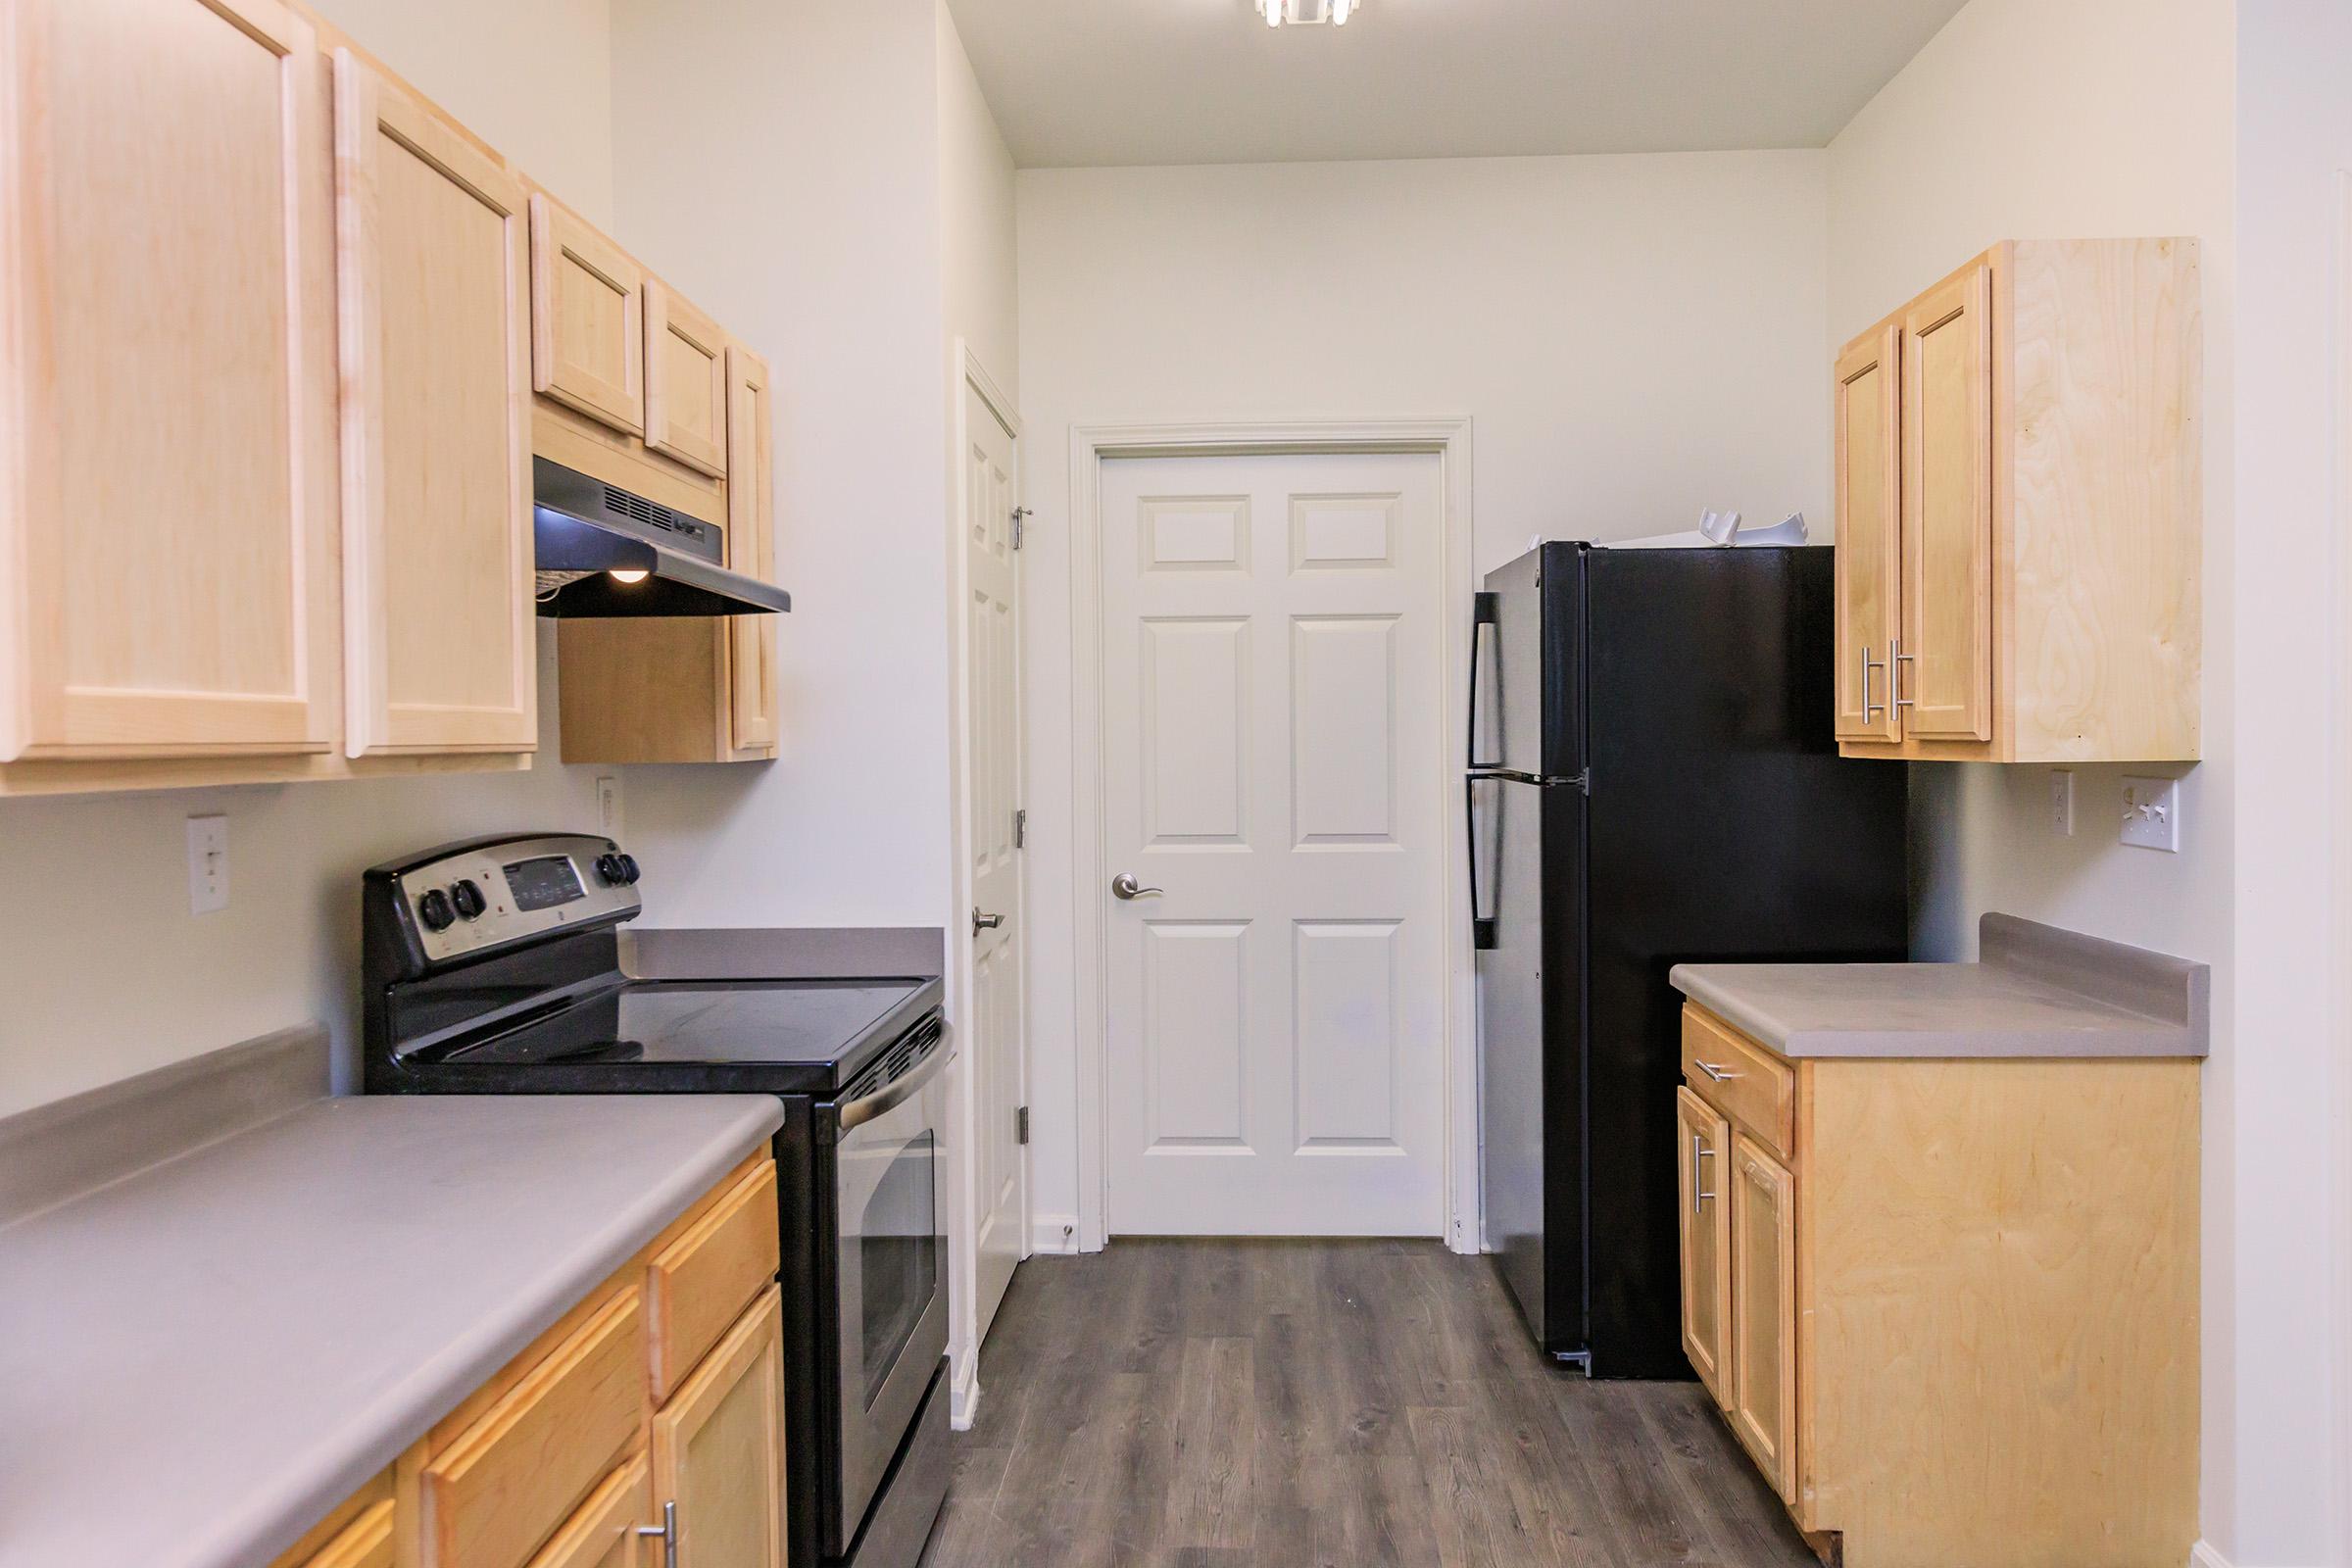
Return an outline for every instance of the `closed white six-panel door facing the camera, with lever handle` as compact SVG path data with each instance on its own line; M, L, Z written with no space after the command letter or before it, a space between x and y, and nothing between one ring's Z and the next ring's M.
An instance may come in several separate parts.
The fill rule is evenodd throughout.
M1439 458L1101 494L1108 1229L1442 1234Z

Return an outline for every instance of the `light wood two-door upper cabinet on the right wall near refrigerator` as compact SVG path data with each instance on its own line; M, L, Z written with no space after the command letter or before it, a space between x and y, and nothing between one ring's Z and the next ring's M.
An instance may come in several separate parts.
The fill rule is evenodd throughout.
M2194 240L2018 240L1846 346L1846 757L2197 759L2201 343Z

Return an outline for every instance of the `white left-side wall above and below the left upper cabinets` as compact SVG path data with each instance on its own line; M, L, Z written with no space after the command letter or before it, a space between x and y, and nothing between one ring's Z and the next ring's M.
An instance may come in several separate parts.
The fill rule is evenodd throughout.
M320 9L567 202L609 209L602 0ZM595 825L595 776L553 762L548 646L532 773L0 799L0 872L16 891L0 903L0 1114L306 1018L355 1060L360 870L466 835ZM183 820L209 811L228 813L230 905L195 917Z

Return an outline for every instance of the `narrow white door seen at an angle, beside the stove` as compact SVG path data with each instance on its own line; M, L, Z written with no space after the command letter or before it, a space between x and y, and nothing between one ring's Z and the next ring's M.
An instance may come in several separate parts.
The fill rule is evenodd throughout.
M964 386L964 849L971 856L974 1338L1004 1300L1028 1246L1028 1161L1016 1138L1025 1103L1021 969L1021 574L1014 564L1018 463L1014 433Z

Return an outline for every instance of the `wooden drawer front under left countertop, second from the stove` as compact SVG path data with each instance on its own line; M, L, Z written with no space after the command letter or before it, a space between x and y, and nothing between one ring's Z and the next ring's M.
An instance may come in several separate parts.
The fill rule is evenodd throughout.
M637 1446L644 1305L612 1298L426 1465L423 1568L522 1568Z

